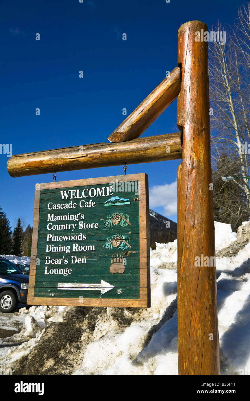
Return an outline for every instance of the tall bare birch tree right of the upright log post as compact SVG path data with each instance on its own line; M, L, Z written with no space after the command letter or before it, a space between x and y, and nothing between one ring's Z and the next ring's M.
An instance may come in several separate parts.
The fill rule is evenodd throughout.
M240 174L237 168L228 175L246 196L249 215L250 4L238 9L234 26L218 23L215 30L226 31L226 41L209 43L212 162L221 161L223 152L232 160L237 157Z

